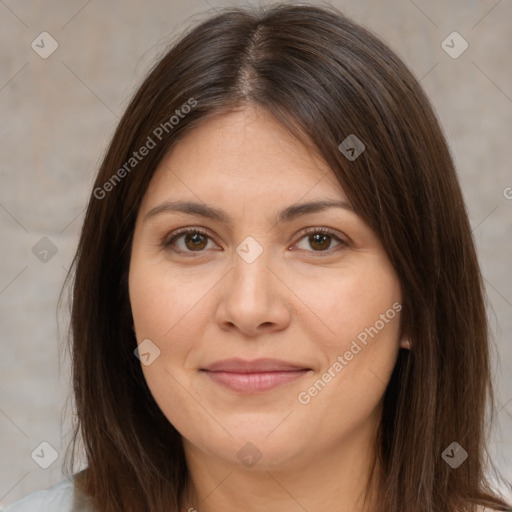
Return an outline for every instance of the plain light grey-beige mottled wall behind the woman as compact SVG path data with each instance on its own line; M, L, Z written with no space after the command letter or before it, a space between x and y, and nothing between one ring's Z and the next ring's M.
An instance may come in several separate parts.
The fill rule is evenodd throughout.
M512 2L333 4L405 60L449 139L495 334L492 449L512 482ZM109 138L171 38L228 5L239 3L0 0L0 510L63 479L72 411L63 409L69 361L59 366L58 347L67 320L61 313L59 334L57 298ZM47 59L31 48L43 31L59 45ZM469 43L457 59L441 47L453 31ZM32 252L44 236L57 248L46 263ZM59 454L46 470L30 456L42 441Z

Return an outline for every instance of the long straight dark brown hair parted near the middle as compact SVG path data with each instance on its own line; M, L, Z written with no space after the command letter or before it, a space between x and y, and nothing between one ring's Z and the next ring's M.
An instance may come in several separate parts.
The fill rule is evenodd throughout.
M68 275L77 412L70 471L79 436L88 464L77 487L101 512L180 510L188 478L181 437L134 356L131 242L162 158L206 117L247 105L267 109L320 153L401 281L412 351L400 351L384 395L379 510L510 510L485 474L487 319L447 143L397 55L335 8L308 4L227 9L192 27L119 122ZM351 161L338 146L352 134L366 149ZM143 146L151 148L136 159ZM469 454L457 469L441 456L453 441Z

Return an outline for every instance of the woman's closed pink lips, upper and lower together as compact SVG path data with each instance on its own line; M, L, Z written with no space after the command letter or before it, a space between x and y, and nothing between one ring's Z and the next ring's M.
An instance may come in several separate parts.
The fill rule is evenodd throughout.
M311 368L278 359L225 359L202 369L214 382L241 393L258 393L292 382Z

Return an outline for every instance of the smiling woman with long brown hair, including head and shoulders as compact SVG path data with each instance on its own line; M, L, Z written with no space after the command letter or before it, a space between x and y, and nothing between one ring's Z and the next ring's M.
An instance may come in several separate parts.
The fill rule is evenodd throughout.
M9 512L510 510L446 141L334 8L185 34L119 123L73 263L88 467Z

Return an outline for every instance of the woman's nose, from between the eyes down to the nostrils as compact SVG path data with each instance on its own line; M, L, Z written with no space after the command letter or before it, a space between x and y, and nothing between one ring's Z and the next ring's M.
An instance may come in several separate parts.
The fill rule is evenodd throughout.
M223 330L256 337L285 329L290 323L288 295L292 292L270 268L266 251L251 263L235 253L234 265L219 290L216 321Z

